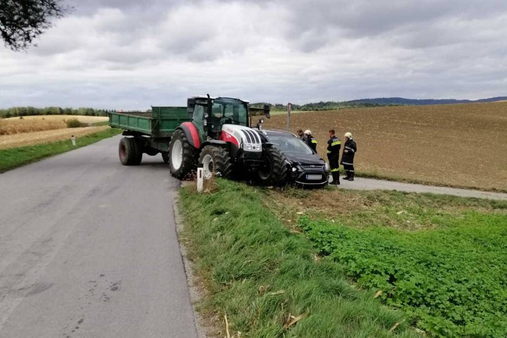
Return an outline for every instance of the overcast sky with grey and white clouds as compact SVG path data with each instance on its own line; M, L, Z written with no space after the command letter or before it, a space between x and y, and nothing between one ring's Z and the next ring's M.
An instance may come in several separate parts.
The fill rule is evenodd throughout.
M66 1L0 47L0 107L507 95L505 0Z

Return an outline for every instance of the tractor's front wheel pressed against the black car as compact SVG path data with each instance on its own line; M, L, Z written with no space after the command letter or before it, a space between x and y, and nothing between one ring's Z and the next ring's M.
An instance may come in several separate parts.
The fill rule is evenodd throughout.
M261 182L271 185L284 185L287 179L285 155L279 149L270 147L263 151L258 176Z

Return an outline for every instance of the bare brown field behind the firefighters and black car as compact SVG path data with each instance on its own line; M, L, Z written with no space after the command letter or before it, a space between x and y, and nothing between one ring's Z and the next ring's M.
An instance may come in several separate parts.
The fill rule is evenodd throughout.
M285 129L284 115L265 128ZM325 157L328 130L350 131L360 173L437 185L507 191L507 102L304 112L291 129L310 129Z

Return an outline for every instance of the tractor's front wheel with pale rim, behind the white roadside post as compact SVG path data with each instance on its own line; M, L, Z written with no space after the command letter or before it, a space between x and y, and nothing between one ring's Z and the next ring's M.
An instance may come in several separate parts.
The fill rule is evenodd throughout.
M199 156L199 164L202 164L202 172L206 179L215 173L225 178L232 175L231 156L226 148L206 145Z

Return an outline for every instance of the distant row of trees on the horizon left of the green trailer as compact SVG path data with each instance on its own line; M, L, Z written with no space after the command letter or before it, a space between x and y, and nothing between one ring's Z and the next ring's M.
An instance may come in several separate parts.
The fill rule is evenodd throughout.
M0 109L0 118L11 118L16 116L31 116L31 115L86 115L86 116L106 116L107 112L115 110L108 109L94 109L94 108L62 108L62 107L11 107L7 109Z

